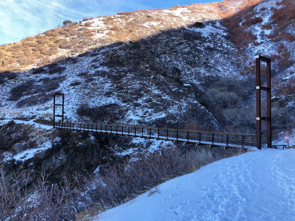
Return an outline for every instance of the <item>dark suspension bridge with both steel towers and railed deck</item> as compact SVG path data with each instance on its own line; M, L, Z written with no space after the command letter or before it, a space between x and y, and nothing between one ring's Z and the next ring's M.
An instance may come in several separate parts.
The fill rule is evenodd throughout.
M260 83L260 62L266 62L266 83L263 87ZM271 59L261 55L256 56L256 134L224 133L212 131L196 131L174 128L157 128L146 126L115 125L102 123L74 123L64 121L64 94L55 93L53 96L53 127L75 131L92 131L104 134L116 134L118 136L139 137L183 142L184 144L196 144L196 146L209 145L209 147L223 146L224 148L240 147L249 148L256 146L261 149L263 144L271 147ZM261 117L261 90L267 91L267 116ZM62 103L55 103L55 97L62 96ZM62 114L56 115L56 106L62 107ZM56 122L55 117L61 117L61 122ZM267 135L261 135L261 121L267 121Z

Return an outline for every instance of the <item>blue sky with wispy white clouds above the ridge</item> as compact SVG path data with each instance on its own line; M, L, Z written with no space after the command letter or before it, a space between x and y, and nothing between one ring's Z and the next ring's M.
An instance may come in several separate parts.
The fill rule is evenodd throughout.
M208 0L0 0L0 44L17 42L83 17L138 9L170 8Z

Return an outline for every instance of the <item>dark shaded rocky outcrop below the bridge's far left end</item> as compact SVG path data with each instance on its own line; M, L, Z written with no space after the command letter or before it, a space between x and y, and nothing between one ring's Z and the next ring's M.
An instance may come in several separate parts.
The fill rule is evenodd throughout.
M3 125L0 128L1 138L9 140L15 132L15 128L20 124L13 121ZM32 158L24 161L12 158L8 161L2 161L4 165L4 175L8 177L16 177L23 188L26 184L27 177L28 187L32 187L41 173L45 173L49 182L60 182L64 176L69 180L73 179L72 174L75 173L91 173L99 165L106 165L113 161L122 162L124 157L114 154L118 146L128 147L131 138L121 138L118 136L106 136L99 133L80 133L77 131L60 130L53 131L54 140L52 147L35 154ZM14 142L13 140L9 142ZM134 147L134 143L132 147ZM42 146L42 145L41 145ZM10 145L5 149L6 153L12 155L24 151L28 147L26 141ZM120 148L122 151L122 148ZM0 154L3 153L3 150ZM20 159L24 158L21 157ZM14 185L12 179L11 186Z

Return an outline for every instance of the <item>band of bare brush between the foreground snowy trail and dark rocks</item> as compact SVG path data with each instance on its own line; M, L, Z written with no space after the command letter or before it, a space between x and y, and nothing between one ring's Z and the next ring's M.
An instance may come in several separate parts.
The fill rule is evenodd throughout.
M0 217L9 221L83 220L86 215L97 215L127 202L169 179L240 152L241 149L183 149L163 145L152 154L114 164L100 174L89 177L74 174L72 182L63 177L62 182L50 184L43 173L30 190L28 174L22 180L17 176L8 178L0 168ZM12 167L15 165L17 162L11 163Z

